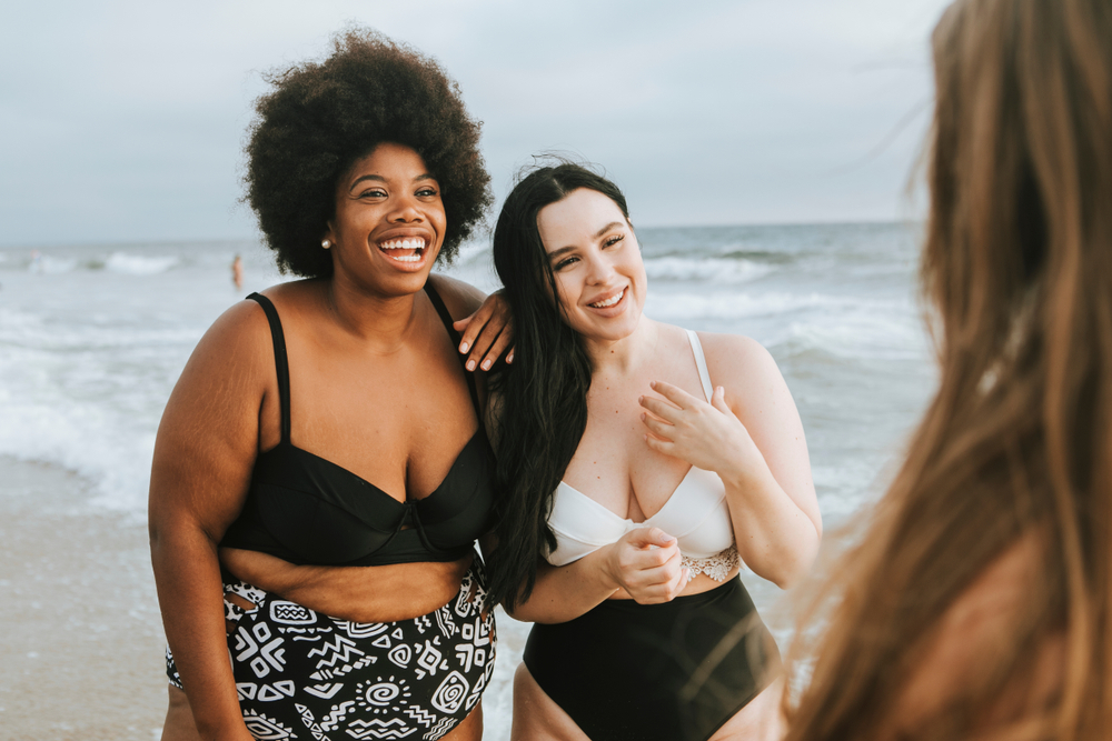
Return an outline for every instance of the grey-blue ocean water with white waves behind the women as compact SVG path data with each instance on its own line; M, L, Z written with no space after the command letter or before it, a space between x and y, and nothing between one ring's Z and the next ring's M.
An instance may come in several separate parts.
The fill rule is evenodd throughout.
M883 489L935 380L914 292L919 228L642 229L638 239L646 313L768 348L803 418L826 525L854 517ZM242 290L230 279L237 253ZM465 246L445 271L497 288L486 243ZM142 520L159 417L190 351L230 304L279 280L252 241L0 248L0 455L80 473L95 507ZM743 578L758 608L776 599ZM499 632L484 703L493 739L508 734L527 628L503 619Z

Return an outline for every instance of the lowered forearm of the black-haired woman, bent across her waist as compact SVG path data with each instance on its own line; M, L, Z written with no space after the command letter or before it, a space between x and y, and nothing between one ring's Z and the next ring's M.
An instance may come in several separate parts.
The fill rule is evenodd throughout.
M619 592L620 588L604 569L609 548L600 548L563 567L542 561L533 593L517 605L512 617L526 622L567 622Z

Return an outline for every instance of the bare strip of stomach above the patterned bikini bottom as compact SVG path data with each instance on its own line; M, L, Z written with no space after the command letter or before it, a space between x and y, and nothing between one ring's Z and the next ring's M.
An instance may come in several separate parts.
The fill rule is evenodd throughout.
M396 622L428 614L455 599L471 557L443 563L317 567L221 548L220 564L237 579L332 618ZM255 607L237 595L227 599L244 609Z

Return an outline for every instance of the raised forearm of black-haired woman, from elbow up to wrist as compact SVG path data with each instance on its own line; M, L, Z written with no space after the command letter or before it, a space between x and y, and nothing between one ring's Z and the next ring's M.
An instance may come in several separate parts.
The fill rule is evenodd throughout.
M753 468L723 477L737 552L758 577L787 588L814 562L818 528L766 465Z

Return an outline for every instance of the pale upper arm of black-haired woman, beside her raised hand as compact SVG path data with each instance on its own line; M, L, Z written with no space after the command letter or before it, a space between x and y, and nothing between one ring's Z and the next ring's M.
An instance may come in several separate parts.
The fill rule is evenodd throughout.
M811 457L800 411L772 354L747 337L699 332L707 370L745 425L773 478L822 534Z

